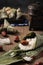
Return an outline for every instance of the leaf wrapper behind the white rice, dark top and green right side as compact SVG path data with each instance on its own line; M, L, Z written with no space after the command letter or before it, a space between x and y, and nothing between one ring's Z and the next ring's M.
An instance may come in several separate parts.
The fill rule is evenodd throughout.
M32 38L35 38L35 37L36 37L36 42L35 42L35 44L31 43L31 46L32 46L32 44L33 44L33 46L32 46L31 49L35 49L35 48L37 48L37 47L43 45L43 34L41 35L41 34L36 34L36 33L34 33L34 32L31 32L31 33L27 34L27 35L23 38L24 40L26 40L26 39L32 39ZM30 50L31 50L31 49L30 49Z

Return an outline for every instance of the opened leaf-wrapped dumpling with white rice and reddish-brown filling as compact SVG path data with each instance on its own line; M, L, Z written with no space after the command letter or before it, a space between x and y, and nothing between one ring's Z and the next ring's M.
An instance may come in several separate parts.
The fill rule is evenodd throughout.
M21 50L32 50L43 45L43 36L34 32L27 34L23 40L28 42L28 44L26 44L26 42L19 43L19 48Z

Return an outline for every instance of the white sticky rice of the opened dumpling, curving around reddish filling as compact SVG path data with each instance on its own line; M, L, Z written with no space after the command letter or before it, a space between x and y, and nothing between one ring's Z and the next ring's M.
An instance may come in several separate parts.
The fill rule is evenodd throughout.
M19 44L19 48L21 50L31 50L35 48L35 44L36 44L36 37L32 38L32 39L26 39L26 41L28 41L28 45L22 45L21 43Z

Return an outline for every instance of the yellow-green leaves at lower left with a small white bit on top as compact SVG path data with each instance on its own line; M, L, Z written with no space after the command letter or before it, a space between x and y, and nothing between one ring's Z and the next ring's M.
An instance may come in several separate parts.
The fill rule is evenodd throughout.
M11 63L22 61L22 57L18 55L16 56L16 51L17 50L9 50L8 52L0 56L0 65L9 65ZM12 53L14 53L14 55L11 55Z

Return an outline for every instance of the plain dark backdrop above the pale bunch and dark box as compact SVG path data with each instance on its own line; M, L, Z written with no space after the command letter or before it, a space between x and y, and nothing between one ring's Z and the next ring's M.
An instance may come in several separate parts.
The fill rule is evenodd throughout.
M23 11L26 11L28 5L35 2L40 2L43 6L43 0L0 0L0 9L4 6L10 6L14 8L20 7Z

